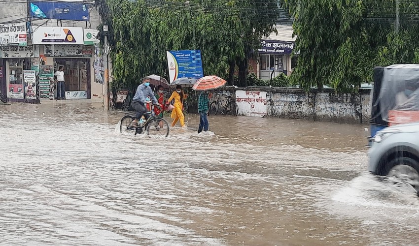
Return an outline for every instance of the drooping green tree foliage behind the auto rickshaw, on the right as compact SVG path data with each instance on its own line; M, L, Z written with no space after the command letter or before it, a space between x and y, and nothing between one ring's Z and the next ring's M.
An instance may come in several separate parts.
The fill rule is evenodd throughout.
M285 2L300 51L291 81L306 89L356 90L374 66L419 62L418 0Z

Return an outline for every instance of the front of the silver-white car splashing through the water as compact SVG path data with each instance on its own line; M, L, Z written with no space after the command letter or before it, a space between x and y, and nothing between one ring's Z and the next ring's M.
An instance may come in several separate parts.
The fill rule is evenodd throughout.
M395 125L378 131L369 156L368 171L395 177L419 192L419 123Z

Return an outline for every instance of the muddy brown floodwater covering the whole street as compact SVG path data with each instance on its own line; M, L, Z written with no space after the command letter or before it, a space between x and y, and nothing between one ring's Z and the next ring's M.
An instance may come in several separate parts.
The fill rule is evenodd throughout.
M210 117L148 138L81 102L0 107L1 245L418 245L364 125Z

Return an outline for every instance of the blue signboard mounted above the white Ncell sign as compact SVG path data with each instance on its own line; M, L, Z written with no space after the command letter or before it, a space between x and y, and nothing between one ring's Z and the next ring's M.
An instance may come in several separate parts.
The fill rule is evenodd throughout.
M70 21L88 21L89 4L80 2L37 2L30 3L32 18Z

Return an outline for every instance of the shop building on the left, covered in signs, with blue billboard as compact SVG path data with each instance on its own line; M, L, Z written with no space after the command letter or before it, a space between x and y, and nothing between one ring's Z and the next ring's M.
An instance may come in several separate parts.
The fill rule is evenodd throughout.
M28 17L14 19L15 9L0 8L3 16L10 16L0 23L2 94L11 101L57 98L54 73L63 66L66 99L103 98L98 31L91 28L91 21L96 28L99 19L92 18L92 6L80 1L10 4L26 5L15 9Z

